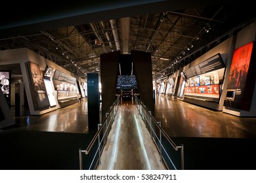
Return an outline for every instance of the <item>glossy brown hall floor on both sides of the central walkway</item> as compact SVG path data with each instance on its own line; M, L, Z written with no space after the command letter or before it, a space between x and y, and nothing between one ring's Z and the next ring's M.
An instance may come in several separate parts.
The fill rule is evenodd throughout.
M155 118L170 137L256 137L256 118L233 116L163 95L156 97ZM87 100L41 116L14 117L14 121L16 125L10 129L89 133Z

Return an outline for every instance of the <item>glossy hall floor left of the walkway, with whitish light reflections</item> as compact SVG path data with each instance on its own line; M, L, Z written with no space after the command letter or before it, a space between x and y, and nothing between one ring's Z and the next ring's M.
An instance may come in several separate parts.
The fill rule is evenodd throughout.
M14 107L11 108L14 116ZM26 114L28 112L24 112ZM64 133L89 133L87 122L87 100L68 107L59 108L41 116L14 117L12 129L51 131Z

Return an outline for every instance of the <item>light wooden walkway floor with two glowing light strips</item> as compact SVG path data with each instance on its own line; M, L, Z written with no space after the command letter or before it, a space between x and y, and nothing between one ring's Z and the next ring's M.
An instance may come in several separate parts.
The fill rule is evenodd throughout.
M160 155L139 110L131 102L119 105L98 170L164 170Z

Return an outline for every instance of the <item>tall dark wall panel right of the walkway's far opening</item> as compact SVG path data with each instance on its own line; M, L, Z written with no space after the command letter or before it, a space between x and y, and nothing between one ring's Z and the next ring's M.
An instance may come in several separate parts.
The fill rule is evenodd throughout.
M147 110L155 114L153 83L152 83L152 61L149 52L131 50L134 65L134 73L140 94L140 101L146 105Z

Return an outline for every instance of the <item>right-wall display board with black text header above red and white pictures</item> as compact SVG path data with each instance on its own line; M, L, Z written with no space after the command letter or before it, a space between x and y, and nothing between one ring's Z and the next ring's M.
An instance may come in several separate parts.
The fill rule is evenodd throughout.
M181 74L186 79L184 97L219 102L225 66L221 54L202 61Z

